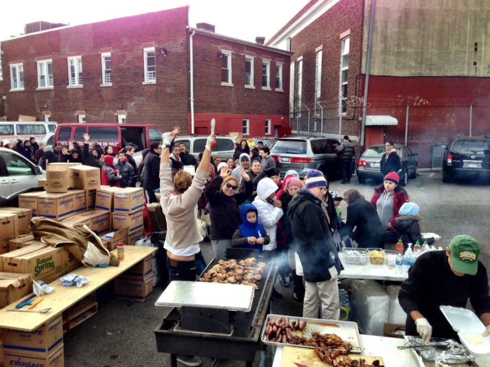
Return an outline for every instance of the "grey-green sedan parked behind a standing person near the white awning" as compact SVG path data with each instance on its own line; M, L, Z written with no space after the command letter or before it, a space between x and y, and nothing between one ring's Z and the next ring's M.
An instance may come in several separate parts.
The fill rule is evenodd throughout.
M415 178L419 163L417 158L419 153L413 153L406 145L395 144L394 148L400 156L402 168L397 172L400 176L400 185L405 186L408 178ZM385 146L372 145L367 148L357 161L357 179L359 183L364 183L366 179L371 178L377 181L383 180L383 174L380 170L380 161L386 152Z

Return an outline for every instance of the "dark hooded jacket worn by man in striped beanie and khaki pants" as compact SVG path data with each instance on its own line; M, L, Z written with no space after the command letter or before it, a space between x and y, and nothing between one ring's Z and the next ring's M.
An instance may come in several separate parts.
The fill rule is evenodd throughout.
M301 189L289 202L287 215L306 281L329 280L344 270L318 198Z

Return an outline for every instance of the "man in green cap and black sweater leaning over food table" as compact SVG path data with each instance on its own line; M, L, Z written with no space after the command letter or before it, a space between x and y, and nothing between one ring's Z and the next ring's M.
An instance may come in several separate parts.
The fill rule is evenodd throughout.
M415 261L402 283L398 300L407 313L406 335L459 340L439 306L466 307L475 313L490 334L490 296L486 269L478 261L480 246L469 235L457 235L446 251L429 251Z

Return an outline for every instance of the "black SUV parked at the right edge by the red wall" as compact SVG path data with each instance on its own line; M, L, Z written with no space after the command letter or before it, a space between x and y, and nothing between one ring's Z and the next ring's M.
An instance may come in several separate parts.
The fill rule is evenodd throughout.
M444 151L443 182L490 179L490 138L458 137Z

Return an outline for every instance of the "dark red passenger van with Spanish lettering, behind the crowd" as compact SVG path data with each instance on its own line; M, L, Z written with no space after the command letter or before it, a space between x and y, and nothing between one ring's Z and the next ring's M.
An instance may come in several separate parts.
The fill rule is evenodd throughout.
M90 142L97 141L102 147L111 145L117 153L127 145L135 151L149 148L152 142L161 142L163 130L148 124L59 124L53 142L69 145L76 141L82 146L86 133Z

